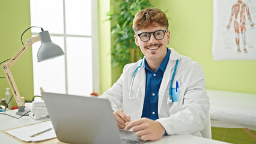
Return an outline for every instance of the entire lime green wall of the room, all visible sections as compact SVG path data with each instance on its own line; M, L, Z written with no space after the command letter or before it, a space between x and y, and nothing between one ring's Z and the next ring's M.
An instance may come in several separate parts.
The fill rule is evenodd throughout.
M99 3L99 49L100 49L100 93L110 88L120 74L118 68L111 68L110 22L106 12L113 0L97 0ZM169 47L181 55L200 62L206 75L208 89L236 91L256 94L256 61L213 61L212 60L212 0L151 0L163 11L168 10L171 42ZM29 0L0 1L0 62L11 58L22 47L20 35L30 26ZM23 35L23 40L31 36L31 31ZM29 49L11 68L20 94L31 100L32 50ZM4 73L0 70L0 77ZM0 79L0 98L4 97L6 79ZM224 133L227 142L255 143L241 129L213 128L213 139L222 140ZM237 133L240 133L238 136ZM254 131L255 133L255 131Z

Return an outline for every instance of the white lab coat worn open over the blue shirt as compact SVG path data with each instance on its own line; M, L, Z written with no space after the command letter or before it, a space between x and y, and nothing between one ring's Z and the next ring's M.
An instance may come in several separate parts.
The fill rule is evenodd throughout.
M168 65L159 89L159 119L156 121L162 124L169 135L195 134L201 136L200 131L206 125L210 107L203 69L198 62L192 61L187 56L181 56L174 49L170 50ZM172 88L175 88L175 82L178 80L180 95L177 102L167 105L171 77L177 59L179 59L178 67ZM131 117L132 121L141 118L144 104L146 80L144 62L136 73L130 94L131 98L135 97L139 88L138 97L135 100L128 98L132 74L136 67L141 64L141 61L142 59L133 64L125 65L123 74L117 82L100 96L100 98L108 98L113 110L123 110Z

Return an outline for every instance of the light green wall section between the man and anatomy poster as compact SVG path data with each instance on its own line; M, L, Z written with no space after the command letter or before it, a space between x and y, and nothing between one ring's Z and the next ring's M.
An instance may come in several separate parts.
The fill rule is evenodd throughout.
M256 94L256 61L213 61L212 0L151 0L151 3L168 10L169 47L200 62L207 89Z

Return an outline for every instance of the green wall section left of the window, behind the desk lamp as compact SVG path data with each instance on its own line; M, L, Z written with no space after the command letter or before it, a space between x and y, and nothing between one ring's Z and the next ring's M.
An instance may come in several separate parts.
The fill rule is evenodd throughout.
M22 47L20 36L31 26L29 0L0 1L0 62L11 58ZM23 43L31 37L31 31L23 35ZM29 49L11 68L20 95L25 100L32 100L33 72L32 49ZM0 77L4 77L0 70ZM0 98L5 96L5 88L9 87L7 79L0 79ZM12 92L10 92L12 94ZM16 104L13 100L13 104Z

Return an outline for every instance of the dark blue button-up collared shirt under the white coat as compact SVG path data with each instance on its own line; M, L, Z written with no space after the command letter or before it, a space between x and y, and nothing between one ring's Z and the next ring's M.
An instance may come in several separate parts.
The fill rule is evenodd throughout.
M167 54L156 71L150 70L145 60L146 88L145 99L141 118L156 120L158 116L158 93L163 79L163 73L169 61L171 51L167 49Z

